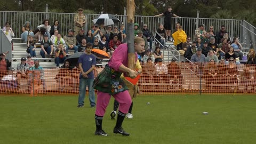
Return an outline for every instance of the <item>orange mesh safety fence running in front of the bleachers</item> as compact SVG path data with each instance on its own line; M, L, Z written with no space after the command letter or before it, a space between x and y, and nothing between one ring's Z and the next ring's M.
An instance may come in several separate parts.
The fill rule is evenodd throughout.
M148 95L172 93L254 93L256 72L254 65L215 65L214 63L170 62L158 66L141 63L138 81L140 93ZM96 68L96 76L103 68ZM79 69L44 69L1 71L0 94L61 94L79 93Z

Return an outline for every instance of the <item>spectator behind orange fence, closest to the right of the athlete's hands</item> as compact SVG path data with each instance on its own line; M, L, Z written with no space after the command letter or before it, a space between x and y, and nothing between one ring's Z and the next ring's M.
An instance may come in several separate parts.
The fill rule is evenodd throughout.
M142 71L142 76L145 77L146 83L154 83L156 80L156 67L152 59L148 58L146 63L144 64L144 68Z

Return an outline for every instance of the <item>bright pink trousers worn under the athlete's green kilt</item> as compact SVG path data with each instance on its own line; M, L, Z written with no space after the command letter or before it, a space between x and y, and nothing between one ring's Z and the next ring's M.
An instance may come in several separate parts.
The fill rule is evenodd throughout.
M114 99L119 102L119 111L127 114L132 103L129 91L119 92L113 95ZM98 116L104 116L106 108L108 106L111 95L109 93L98 91L97 104L95 114Z

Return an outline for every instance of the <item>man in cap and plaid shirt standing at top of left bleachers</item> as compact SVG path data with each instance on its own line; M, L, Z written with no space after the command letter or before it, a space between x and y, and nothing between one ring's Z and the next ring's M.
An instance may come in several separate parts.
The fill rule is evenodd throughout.
M75 22L74 36L76 36L86 23L86 18L85 18L85 15L83 14L82 8L79 8L78 13L75 14L74 22Z

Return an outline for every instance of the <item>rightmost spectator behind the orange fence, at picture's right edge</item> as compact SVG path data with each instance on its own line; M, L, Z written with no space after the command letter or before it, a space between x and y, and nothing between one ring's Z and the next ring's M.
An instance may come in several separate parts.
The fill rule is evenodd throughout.
M244 85L244 92L254 92L255 90L255 77L252 77L252 73L251 73L251 66L246 65L244 70L243 70L243 74L242 74L242 78L241 78L241 84ZM248 90L248 86L251 87L251 91Z

